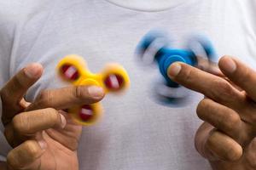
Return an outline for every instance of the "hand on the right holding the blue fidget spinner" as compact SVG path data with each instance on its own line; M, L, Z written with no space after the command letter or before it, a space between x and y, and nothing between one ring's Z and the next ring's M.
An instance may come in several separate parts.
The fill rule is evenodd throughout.
M226 78L183 63L172 64L168 73L206 96L197 107L204 121L195 135L201 156L216 170L256 169L256 72L228 56L218 66Z

